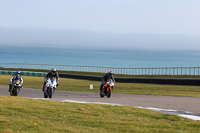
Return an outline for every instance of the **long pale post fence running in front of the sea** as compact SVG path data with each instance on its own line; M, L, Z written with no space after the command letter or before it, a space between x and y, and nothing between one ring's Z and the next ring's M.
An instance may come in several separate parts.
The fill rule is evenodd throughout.
M56 68L64 71L100 72L109 70L116 74L127 75L200 75L200 67L158 67L158 68L117 68L101 66L75 66L75 65L52 65L52 64L23 64L23 63L0 63L2 68L27 68L50 70Z

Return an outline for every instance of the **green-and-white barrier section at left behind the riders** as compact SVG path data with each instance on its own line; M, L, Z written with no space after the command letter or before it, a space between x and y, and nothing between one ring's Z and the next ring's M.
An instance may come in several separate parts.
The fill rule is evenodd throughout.
M16 73L16 71L6 71L6 70L0 70L0 75L12 75ZM47 73L45 72L29 72L29 71L21 71L21 75L25 76L38 76L38 77L44 77Z

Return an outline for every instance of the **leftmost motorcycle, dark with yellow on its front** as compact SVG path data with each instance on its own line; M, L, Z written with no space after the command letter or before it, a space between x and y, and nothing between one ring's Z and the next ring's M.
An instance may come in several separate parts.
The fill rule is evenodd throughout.
M10 90L10 95L17 96L19 94L20 89L22 88L22 84L21 81L19 80L19 77L17 76L11 84L13 87Z

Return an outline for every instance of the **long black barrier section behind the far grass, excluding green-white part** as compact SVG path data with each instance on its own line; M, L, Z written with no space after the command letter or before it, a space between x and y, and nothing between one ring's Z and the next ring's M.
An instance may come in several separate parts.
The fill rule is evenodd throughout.
M85 79L101 81L99 76L84 76L73 74L59 74L61 78ZM194 85L200 86L200 79L197 78L119 78L115 77L116 82L120 83L149 83L149 84L168 84L168 85Z

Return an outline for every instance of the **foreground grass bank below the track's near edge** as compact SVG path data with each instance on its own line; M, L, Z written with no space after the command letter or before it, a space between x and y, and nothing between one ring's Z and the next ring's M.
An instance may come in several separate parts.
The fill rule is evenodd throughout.
M0 101L1 133L199 133L200 131L200 122L134 107L78 104L10 96L0 96Z

